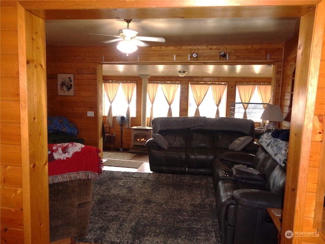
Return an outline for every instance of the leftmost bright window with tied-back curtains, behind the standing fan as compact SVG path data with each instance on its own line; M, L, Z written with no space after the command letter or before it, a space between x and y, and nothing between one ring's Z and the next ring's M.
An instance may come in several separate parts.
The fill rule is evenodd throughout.
M103 115L107 115L108 109L110 107L110 103L108 100L108 96L105 92L104 84L105 83L103 83ZM135 88L135 90L133 92L132 100L130 103L130 116L131 117L136 116L136 105L137 105L136 90L137 90L137 87ZM112 115L116 116L119 113L126 113L126 110L127 110L127 102L125 99L125 95L123 93L122 85L121 85L121 83L119 83L115 99L112 102Z

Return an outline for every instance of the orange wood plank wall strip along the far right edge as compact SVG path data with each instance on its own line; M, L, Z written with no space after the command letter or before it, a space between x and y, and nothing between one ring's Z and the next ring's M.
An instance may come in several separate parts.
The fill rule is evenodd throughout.
M320 13L325 11L325 3L318 6ZM319 19L319 17L318 17ZM325 33L325 23L323 20L316 18L316 25L323 27ZM319 22L317 22L319 21ZM307 185L306 185L306 202L304 212L304 231L321 231L322 238L318 237L319 243L325 242L325 223L321 223L321 216L324 218L325 211L323 209L325 175L324 170L320 170L325 164L325 36L322 36L321 60L318 75L318 84L316 87L315 111L313 117L311 151L308 164ZM320 36L320 37L321 37ZM317 208L317 209L316 209ZM315 220L314 220L315 219ZM318 221L318 223L317 223ZM314 243L314 237L304 237L302 243Z

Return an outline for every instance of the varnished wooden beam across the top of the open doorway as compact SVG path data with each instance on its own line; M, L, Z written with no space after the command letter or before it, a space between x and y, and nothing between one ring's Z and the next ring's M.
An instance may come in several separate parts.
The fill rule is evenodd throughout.
M300 17L320 1L20 1L43 19Z

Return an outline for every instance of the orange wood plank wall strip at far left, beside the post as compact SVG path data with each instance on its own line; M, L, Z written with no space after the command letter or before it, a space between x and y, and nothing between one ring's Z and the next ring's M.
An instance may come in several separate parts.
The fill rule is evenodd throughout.
M6 22L4 22L6 20ZM16 2L1 6L1 243L24 243Z

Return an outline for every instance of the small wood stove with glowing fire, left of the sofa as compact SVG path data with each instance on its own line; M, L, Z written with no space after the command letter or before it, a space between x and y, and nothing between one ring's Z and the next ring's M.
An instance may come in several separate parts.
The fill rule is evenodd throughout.
M131 128L131 150L135 153L147 153L146 141L152 137L151 127L134 126Z

